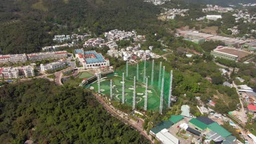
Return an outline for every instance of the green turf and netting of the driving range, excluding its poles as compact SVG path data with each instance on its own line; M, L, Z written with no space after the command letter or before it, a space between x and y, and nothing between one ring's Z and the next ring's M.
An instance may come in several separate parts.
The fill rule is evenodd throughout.
M144 107L144 95L146 89L146 79L144 79L144 62L138 63L138 80L136 79L136 106ZM168 94L170 89L170 71L164 71L161 67L161 79L159 81L160 63L154 63L154 75L152 81L153 62L146 62L146 77L148 77L148 110L159 110L161 95L161 80L164 76L164 103L163 109L167 107ZM121 102L122 98L122 76L125 75L125 104L132 105L133 77L137 77L137 64L128 64L128 76L126 76L126 66L123 69L115 70L114 74L102 77L100 81L101 93L110 97L110 80L113 81L113 99ZM86 88L98 91L97 81L87 85Z

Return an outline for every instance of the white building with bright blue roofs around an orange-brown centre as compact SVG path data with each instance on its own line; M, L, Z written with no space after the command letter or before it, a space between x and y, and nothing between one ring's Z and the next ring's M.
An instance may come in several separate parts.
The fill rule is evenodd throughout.
M74 52L75 58L83 65L84 69L97 69L109 66L109 59L104 59L101 53L84 51L83 49L77 49Z

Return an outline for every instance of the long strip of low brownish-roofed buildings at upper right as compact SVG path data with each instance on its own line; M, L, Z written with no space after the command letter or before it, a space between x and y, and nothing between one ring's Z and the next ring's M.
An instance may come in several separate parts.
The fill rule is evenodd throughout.
M239 40L234 38L228 37L221 37L218 35L213 34L206 34L206 33L199 33L197 31L179 31L179 35L183 36L184 38L205 38L206 40L213 40L213 41L223 41L225 45L242 45L247 43L245 40Z

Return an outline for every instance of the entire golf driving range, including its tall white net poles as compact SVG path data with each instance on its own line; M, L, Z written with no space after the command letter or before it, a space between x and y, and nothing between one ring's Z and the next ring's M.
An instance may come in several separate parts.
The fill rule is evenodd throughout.
M97 73L85 79L84 87L106 95L110 100L141 107L145 111L162 113L163 109L175 101L172 97L172 71L166 71L162 63L143 61L137 64L126 63L119 70Z

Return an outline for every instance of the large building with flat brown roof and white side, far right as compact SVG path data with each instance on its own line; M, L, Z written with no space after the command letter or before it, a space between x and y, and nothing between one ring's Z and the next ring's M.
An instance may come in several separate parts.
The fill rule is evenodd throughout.
M253 53L231 47L218 46L216 49L211 51L211 55L231 61L244 61L248 57L253 56Z

